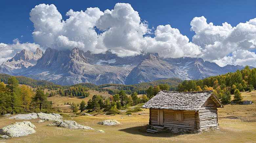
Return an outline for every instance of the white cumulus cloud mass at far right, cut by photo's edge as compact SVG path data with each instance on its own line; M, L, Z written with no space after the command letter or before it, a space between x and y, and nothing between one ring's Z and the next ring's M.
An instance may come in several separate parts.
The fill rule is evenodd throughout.
M195 17L191 23L195 31L193 43L202 47L199 57L216 62L220 66L239 64L256 66L254 52L256 48L256 18L232 27L228 23L222 26L207 24L205 17ZM232 56L228 56L231 54Z

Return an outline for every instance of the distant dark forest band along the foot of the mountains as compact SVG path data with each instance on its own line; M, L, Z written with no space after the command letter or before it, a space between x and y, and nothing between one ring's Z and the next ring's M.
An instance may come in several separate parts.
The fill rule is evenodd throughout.
M7 84L8 79L11 78L8 74L0 74L0 79L5 84ZM56 85L53 82L45 81L45 80L34 80L27 77L16 76L16 79L19 81L19 84L29 85L32 88L40 88L40 89L53 89L59 90L59 93L62 96L88 96L88 93L85 91L88 90L96 90L99 92L108 92L111 95L118 94L121 90L123 90L126 94L132 94L134 92L138 94L147 94L147 90L150 86L158 86L160 84L168 85L167 90L176 91L177 86L183 80L178 78L170 78L164 80L156 80L152 82L143 82L139 84L132 84L132 85L123 85L123 84L102 84L102 85L95 85L92 83L78 83L71 86L61 86ZM117 89L109 89L104 88L108 86L116 86ZM165 88L166 89L166 88Z

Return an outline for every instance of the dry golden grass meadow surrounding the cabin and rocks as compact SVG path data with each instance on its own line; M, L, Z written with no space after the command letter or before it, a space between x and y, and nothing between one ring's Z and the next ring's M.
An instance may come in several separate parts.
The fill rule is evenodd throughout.
M56 127L48 127L47 124L52 121L44 123L37 123L39 119L30 120L35 126L36 133L23 137L14 137L12 139L0 139L0 142L17 143L17 142L151 142L151 143L165 143L165 142L197 142L197 143L212 143L212 142L256 142L256 120L243 120L243 118L256 118L256 96L255 91L250 93L242 93L244 100L254 101L254 105L224 105L224 108L218 109L220 130L210 130L205 133L197 134L181 134L174 135L170 133L147 133L145 132L149 120L149 109L133 114L126 115L102 115L97 116L70 116L63 119L75 120L77 123L85 126L90 126L95 130L83 131L82 129L56 129ZM92 96L92 95L91 95ZM70 101L89 100L88 98L61 98L59 103L70 99ZM50 98L48 98L50 99ZM57 103L57 101L54 101ZM64 102L63 102L64 105ZM69 113L72 115L71 113ZM139 115L141 114L141 115ZM122 119L123 118L123 119ZM230 119L235 118L235 119ZM240 118L240 119L239 119ZM121 124L119 126L104 126L98 125L97 122L105 119L116 119ZM10 125L13 122L22 120L0 118L0 128ZM252 121L252 122L245 122ZM96 130L103 130L105 133L99 133Z

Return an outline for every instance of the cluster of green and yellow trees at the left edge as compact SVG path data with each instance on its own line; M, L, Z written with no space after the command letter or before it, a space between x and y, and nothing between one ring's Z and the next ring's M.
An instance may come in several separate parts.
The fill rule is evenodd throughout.
M15 76L7 80L7 84L0 81L0 111L5 113L52 112L52 104L47 100L43 90L36 90L36 94L25 84L18 86Z

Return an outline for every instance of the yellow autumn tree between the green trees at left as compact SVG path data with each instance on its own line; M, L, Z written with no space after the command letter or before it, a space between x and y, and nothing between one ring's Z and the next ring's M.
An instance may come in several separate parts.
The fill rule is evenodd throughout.
M22 85L20 87L20 99L21 99L21 103L22 103L22 107L24 110L29 111L29 107L31 105L31 101L32 101L32 97L33 97L33 92L32 90L27 87L26 85Z

